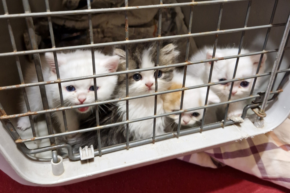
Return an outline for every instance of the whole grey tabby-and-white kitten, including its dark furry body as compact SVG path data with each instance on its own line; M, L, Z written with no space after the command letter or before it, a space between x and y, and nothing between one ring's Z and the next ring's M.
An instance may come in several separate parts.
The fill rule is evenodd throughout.
M141 69L156 66L157 43L148 42L142 44L129 44L129 69ZM118 71L126 69L126 52L124 49L116 48L114 54L120 56ZM174 64L179 51L172 43L163 44L160 50L159 65ZM155 92L155 70L129 73L129 97ZM173 68L159 70L158 91L167 90L171 85ZM115 90L115 98L126 97L126 75L118 77ZM129 120L144 118L154 115L154 96L129 100ZM118 123L126 121L126 101L117 102L107 108L108 117L100 118L100 125ZM157 113L163 114L163 101L157 97ZM95 118L87 121L83 128L96 126ZM156 135L165 133L165 117L156 118ZM126 142L126 125L113 126L100 130L102 147L111 146ZM129 123L129 140L138 140L152 137L153 119ZM90 146L98 148L97 131L78 134L77 137L69 139L68 143L73 146L73 151L77 152L79 147Z

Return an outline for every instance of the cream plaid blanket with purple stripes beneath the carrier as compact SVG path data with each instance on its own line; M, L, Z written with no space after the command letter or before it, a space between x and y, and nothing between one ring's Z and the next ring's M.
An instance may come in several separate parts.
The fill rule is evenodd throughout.
M189 163L234 167L290 189L290 116L273 131L180 157Z

